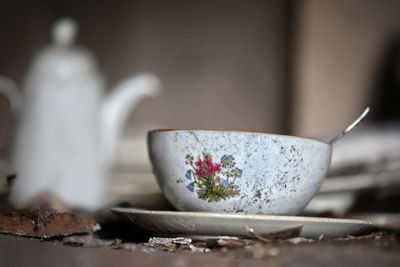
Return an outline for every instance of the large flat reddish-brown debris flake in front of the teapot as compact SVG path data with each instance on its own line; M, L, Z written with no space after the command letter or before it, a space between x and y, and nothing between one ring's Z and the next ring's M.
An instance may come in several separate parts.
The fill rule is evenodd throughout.
M100 226L77 218L72 213L53 209L24 209L0 212L0 233L49 239L73 234L90 233Z

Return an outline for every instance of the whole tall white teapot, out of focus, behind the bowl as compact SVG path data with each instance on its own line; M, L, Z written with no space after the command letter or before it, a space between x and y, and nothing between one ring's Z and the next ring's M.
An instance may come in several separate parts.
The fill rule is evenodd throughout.
M70 207L94 210L105 203L107 171L130 111L159 91L152 74L128 78L103 99L104 81L92 56L73 45L76 23L58 21L53 44L32 64L23 95L0 78L0 94L17 115L10 200L17 207L43 192Z

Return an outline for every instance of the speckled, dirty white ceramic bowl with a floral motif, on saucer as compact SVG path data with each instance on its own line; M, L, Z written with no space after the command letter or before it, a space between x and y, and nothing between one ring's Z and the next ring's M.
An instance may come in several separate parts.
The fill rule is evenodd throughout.
M179 210L295 215L318 192L328 143L236 131L154 130L157 182Z

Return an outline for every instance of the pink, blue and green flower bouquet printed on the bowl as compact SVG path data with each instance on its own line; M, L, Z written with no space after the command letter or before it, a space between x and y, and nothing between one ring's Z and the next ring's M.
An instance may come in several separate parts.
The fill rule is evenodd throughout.
M187 154L185 163L189 168L185 177L191 181L186 188L197 193L198 198L218 202L239 195L235 181L242 176L242 170L235 167L233 156L224 155L220 163L216 163L206 152L196 160L192 154Z

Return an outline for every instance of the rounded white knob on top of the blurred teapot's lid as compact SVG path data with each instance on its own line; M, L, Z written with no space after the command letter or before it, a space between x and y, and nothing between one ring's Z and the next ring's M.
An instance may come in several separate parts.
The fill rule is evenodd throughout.
M78 33L77 23L70 18L58 20L52 29L53 41L60 46L70 46L75 42Z

